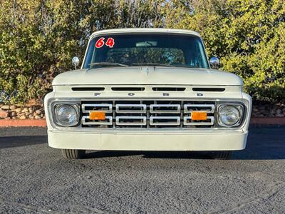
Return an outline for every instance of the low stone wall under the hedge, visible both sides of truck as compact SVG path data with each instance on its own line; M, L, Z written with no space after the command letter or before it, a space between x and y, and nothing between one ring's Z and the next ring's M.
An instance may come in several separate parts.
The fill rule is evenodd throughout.
M283 118L285 117L285 104L254 103L252 108L254 118ZM0 104L0 119L44 119L42 105L19 106Z

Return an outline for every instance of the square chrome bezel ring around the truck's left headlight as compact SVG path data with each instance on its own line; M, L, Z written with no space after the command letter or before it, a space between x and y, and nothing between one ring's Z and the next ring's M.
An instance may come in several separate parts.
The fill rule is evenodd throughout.
M58 110L62 107L62 106L71 106L72 108L74 108L74 110L76 111L76 121L66 125L61 123L61 121L58 120L58 116L57 116L57 112ZM52 105L52 116L53 116L53 122L55 123L56 126L60 126L60 127L74 127L74 126L78 126L79 122L80 122L80 106L78 103L71 103L71 102L56 102L53 103Z

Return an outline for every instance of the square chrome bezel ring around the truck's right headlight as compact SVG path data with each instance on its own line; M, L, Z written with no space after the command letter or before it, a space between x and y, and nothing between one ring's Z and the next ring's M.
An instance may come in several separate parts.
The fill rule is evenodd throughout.
M234 123L233 125L227 125L222 122L220 112L222 111L222 108L232 106L239 111L239 120L237 123ZM246 114L246 108L243 103L219 103L217 105L217 125L219 127L224 127L224 128L237 128L239 126L242 126L242 123L244 122L244 116Z

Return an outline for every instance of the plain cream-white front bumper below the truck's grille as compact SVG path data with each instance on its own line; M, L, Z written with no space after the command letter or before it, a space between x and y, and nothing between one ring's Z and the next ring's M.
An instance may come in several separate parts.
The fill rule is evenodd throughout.
M48 145L53 148L116 151L229 151L244 149L247 134L248 131L48 131Z

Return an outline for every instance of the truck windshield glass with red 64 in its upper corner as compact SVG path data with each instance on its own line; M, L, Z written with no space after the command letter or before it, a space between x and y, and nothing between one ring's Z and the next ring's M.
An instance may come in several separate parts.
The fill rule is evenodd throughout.
M115 34L92 39L83 68L115 66L209 68L202 40L196 36Z

